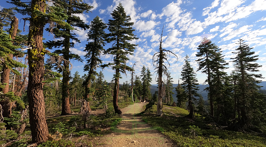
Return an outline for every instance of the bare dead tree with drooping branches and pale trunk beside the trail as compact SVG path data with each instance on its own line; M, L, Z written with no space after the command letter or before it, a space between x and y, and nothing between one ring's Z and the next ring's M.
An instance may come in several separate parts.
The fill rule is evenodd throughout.
M166 65L165 61L167 62L168 66L170 66L169 62L167 61L167 54L168 55L173 54L174 56L176 56L176 54L174 54L173 52L166 50L166 49L163 49L162 38L163 38L163 30L162 30L162 34L161 34L160 46L159 46L158 52L153 55L153 66L155 67L155 72L157 72L157 76L158 76L157 116L163 115L162 99L165 96L165 85L163 83L162 78L163 78L163 75L168 76L168 74L169 74L169 71L167 69L167 65ZM178 57L176 56L176 58L178 58Z

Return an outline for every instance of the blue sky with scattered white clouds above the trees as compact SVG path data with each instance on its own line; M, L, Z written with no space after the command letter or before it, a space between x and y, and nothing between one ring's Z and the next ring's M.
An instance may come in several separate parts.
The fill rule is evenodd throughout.
M159 47L160 34L163 30L163 48L172 51L178 56L168 56L170 67L168 68L173 78L173 83L178 83L181 68L184 64L184 57L190 56L194 70L197 70L197 46L206 37L219 46L223 51L225 60L229 63L230 73L233 70L233 63L230 58L235 55L232 52L238 47L239 39L244 39L246 44L253 47L256 55L259 55L257 63L262 65L259 68L263 77L266 77L266 0L84 0L85 3L94 6L90 13L80 14L85 23L90 23L94 17L99 16L103 22L108 23L112 11L119 2L124 6L126 14L131 16L134 22L134 34L139 38L131 43L138 44L134 55L128 56L128 66L134 66L136 75L140 76L142 66L148 67L154 73L152 57ZM0 9L13 7L8 3L1 3ZM23 16L17 15L19 19ZM25 17L25 16L24 16ZM19 24L22 30L23 23ZM27 22L26 26L29 25ZM106 29L108 33L108 30ZM26 32L27 33L27 32ZM75 31L82 43L76 43L71 49L72 53L79 54L84 59L84 63L75 61L73 63L72 74L79 71L80 75L87 74L83 71L86 53L83 52L87 44L87 30ZM44 32L44 38L53 40L52 35L48 36ZM111 44L107 44L107 49ZM46 57L47 58L47 57ZM103 63L111 62L111 56L101 56ZM177 61L177 62L176 62ZM97 71L100 71L98 69ZM104 69L103 74L109 82L114 71ZM130 73L122 75L120 83L129 81ZM155 82L156 73L153 76L152 84ZM199 83L204 83L206 75L201 71L197 72ZM266 81L266 79L260 79Z

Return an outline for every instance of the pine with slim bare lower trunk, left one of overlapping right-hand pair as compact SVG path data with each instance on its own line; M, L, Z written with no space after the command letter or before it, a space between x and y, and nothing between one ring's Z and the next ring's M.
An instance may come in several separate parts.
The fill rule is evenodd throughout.
M213 110L213 93L210 91L213 91L213 85L211 82L212 77L212 71L211 66L214 64L213 59L215 58L214 53L214 47L215 44L212 44L212 41L208 40L207 38L204 38L197 48L199 52L197 52L196 56L200 57L198 60L196 60L199 64L198 70L203 70L202 73L207 74L207 79L205 80L205 83L209 84L209 87L205 90L209 91L208 98L210 101L210 115L213 116L214 110Z

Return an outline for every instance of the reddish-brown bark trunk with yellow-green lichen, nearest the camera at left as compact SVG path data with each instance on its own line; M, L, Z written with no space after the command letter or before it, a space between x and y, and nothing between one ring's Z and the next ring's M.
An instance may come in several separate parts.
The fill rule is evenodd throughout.
M45 119L45 102L43 96L44 54L43 28L45 19L36 15L33 11L45 12L46 1L31 1L31 19L29 30L28 49L29 77L27 97L29 99L30 130L32 142L44 142L48 139L48 127Z

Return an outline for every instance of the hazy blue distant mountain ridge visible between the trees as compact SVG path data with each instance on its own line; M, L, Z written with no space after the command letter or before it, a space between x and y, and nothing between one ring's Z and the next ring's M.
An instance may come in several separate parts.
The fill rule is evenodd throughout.
M173 99L174 101L176 102L177 98L176 98L176 89L175 87L177 86L178 84L173 84ZM262 81L261 83L258 84L259 86L263 86L261 89L262 90L266 90L266 81ZM199 86L199 89L198 90L198 93L201 94L203 96L203 99L204 100L207 100L207 96L208 96L208 93L207 91L204 91L204 89L206 87L208 87L209 85L198 85ZM155 91L158 91L158 85L157 84L152 84L152 86L150 86L150 90L151 90L151 93L152 95L155 93Z

